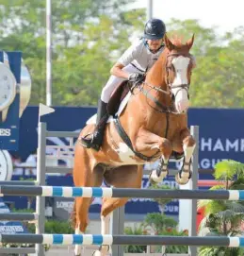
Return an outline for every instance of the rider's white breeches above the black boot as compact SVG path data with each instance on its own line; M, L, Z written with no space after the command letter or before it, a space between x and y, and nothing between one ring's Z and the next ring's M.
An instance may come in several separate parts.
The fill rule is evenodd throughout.
M129 64L125 66L122 70L128 73L140 73L136 67ZM101 99L107 103L110 99L111 94L113 91L122 83L122 81L126 80L125 78L110 76L108 81L106 82L106 86L103 88Z

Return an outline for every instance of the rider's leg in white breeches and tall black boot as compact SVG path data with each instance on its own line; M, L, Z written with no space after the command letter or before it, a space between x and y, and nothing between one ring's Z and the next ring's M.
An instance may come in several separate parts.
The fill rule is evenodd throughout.
M138 70L132 65L128 65L123 69L128 72L138 72ZM106 111L107 103L115 88L118 87L124 80L125 79L120 77L109 77L108 81L106 82L106 86L103 88L101 99L99 101L96 128L91 136L85 136L81 138L82 145L88 148L92 147L95 150L99 150L100 146L103 144L106 121L109 117Z

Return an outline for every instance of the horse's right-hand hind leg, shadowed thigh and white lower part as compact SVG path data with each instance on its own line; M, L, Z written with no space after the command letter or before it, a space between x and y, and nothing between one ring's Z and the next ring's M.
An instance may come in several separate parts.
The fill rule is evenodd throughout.
M140 188L142 179L142 166L126 165L111 170L105 174L106 182L117 188ZM101 210L101 232L109 234L109 220L111 213L122 207L129 198L104 198ZM108 246L96 250L94 256L106 256Z

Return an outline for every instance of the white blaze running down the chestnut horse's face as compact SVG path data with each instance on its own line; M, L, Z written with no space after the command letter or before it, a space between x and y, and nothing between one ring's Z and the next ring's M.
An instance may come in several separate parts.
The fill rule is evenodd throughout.
M189 58L183 56L176 57L171 61L175 71L175 77L173 79L173 82L171 83L171 91L172 94L174 94L175 96L175 108L178 112L187 111L189 107L189 100L186 89L173 87L188 84L187 69L189 61Z

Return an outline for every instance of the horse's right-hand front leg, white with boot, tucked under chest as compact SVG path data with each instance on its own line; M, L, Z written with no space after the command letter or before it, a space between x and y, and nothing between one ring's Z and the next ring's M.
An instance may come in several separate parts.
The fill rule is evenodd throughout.
M191 178L191 157L196 146L196 141L194 140L193 136L190 134L187 128L181 131L180 141L182 142L181 144L184 151L184 162L181 170L175 176L175 180L178 184L185 185Z

